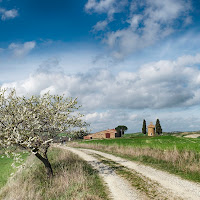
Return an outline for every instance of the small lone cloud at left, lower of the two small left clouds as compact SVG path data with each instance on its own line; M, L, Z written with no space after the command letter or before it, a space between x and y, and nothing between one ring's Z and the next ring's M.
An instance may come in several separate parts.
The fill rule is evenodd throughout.
M33 50L35 46L35 41L25 42L23 44L11 43L8 49L13 53L14 56L23 57L27 55L31 50Z

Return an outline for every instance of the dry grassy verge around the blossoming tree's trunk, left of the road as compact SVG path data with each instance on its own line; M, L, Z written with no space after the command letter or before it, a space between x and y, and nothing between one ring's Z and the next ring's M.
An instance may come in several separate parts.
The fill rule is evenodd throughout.
M1 190L5 200L106 200L109 199L98 172L67 150L51 148L49 160L54 176L49 180L43 164L31 155L25 169Z

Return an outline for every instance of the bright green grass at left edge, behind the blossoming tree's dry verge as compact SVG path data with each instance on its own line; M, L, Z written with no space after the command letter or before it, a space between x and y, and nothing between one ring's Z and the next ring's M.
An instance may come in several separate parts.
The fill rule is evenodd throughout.
M24 161L28 155L28 153L21 153ZM11 166L12 163L13 157L8 158L6 155L0 154L0 189L6 184L10 175L17 170Z

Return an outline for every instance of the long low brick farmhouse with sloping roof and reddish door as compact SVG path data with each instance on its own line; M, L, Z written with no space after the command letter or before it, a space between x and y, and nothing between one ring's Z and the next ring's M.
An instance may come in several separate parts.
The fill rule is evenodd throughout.
M117 137L117 131L115 129L108 129L97 133L89 134L84 136L84 139L105 139Z

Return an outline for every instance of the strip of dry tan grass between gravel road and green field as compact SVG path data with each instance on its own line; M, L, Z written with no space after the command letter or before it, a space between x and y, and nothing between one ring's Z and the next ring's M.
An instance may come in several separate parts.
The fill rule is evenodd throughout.
M200 154L198 152L76 142L69 143L68 145L101 150L147 164L154 164L154 166L157 165L159 168L169 172L183 175L184 178L200 182ZM168 169L169 167L170 169Z

